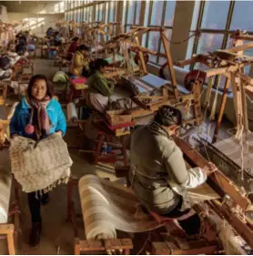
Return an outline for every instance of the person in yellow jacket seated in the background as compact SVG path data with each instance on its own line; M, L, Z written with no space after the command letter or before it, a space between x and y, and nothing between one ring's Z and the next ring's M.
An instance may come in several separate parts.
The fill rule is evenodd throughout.
M89 77L89 62L88 47L78 46L71 61L70 73L77 77Z

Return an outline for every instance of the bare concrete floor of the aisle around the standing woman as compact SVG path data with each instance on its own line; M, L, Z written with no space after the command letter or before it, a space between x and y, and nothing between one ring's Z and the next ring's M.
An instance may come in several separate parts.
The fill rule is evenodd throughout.
M47 59L35 59L35 74L44 74L52 78L58 67L54 67L54 62ZM229 126L230 127L230 126ZM225 133L223 133L225 137ZM69 128L66 133L66 142L69 145L80 143L82 134L76 128ZM76 141L75 141L76 140ZM73 159L72 172L76 176L83 176L87 173L94 173L101 177L115 179L113 168L107 168L103 165L90 165L84 154L75 149L70 149ZM0 159L7 159L7 150L0 151ZM8 166L9 168L9 166ZM21 221L22 221L22 244L19 248L19 254L73 254L74 253L74 233L70 223L66 222L66 185L61 185L50 192L50 203L42 206L41 213L43 219L43 233L40 247L33 250L28 245L29 230L31 227L30 214L27 205L26 194L20 189L21 196ZM77 188L75 189L74 199L76 211L80 212L80 204ZM80 237L84 237L83 224L80 222ZM5 254L5 241L1 241L0 253Z

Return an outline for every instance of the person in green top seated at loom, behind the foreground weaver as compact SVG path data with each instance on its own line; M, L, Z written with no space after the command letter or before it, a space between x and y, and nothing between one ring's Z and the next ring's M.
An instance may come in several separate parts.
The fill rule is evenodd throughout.
M104 73L108 62L105 59L98 58L90 63L92 75L88 77L86 84L89 86L86 95L87 104L90 108L99 113L104 113L109 104L109 97L114 92L114 85L107 81Z

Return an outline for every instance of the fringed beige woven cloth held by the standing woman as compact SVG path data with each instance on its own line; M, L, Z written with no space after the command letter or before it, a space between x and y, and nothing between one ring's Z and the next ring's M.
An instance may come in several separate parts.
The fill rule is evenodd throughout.
M66 142L57 134L40 141L17 137L9 149L11 168L26 193L45 192L67 182L72 160Z

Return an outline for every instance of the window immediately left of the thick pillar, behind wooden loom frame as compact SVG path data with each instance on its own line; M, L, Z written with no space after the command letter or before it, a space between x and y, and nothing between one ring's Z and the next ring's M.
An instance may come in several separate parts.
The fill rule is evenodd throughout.
M164 26L167 39L170 40L174 21L176 1L147 1L144 26ZM156 14L156 15L154 15ZM164 47L158 32L150 32L142 37L142 44L147 48L164 53ZM154 64L164 64L166 59L160 56L149 56Z

